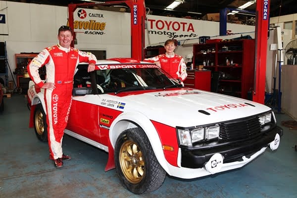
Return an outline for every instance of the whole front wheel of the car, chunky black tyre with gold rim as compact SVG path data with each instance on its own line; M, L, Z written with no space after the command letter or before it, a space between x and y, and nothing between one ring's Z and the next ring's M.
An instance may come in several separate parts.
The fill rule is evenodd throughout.
M135 194L152 192L165 180L166 172L155 157L147 135L140 128L127 129L120 134L114 158L118 178Z

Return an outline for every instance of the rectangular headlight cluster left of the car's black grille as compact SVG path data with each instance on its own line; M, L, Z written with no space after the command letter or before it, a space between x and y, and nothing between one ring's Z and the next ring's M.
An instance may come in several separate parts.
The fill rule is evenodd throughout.
M193 129L177 129L179 143L183 146L193 146L199 141L208 141L218 138L220 127L218 124L212 126L198 127Z

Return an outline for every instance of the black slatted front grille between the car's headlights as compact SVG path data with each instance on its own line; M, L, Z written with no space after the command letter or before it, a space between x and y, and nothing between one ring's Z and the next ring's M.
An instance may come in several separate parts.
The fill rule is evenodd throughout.
M221 123L220 138L227 141L252 139L259 135L261 125L258 117Z

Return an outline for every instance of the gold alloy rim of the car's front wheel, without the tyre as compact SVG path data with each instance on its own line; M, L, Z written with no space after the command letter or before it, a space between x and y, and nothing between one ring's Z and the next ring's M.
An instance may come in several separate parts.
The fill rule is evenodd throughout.
M133 141L124 142L119 159L126 179L132 184L141 182L145 172L145 161L138 145Z

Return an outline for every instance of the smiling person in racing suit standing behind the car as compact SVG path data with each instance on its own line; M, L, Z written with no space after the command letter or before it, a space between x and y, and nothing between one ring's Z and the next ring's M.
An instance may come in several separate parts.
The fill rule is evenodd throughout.
M175 47L175 40L169 39L164 44L164 48L166 49L165 54L160 54L151 58L145 58L144 60L155 63L179 83L181 83L187 77L187 66L184 58L174 53Z

